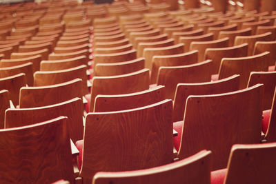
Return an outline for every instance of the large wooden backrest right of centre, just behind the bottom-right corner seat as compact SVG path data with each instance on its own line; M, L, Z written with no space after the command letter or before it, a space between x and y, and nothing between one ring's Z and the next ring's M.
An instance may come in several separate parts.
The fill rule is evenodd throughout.
M264 85L224 94L189 96L178 152L180 159L208 149L212 170L225 168L237 143L259 143L262 132Z

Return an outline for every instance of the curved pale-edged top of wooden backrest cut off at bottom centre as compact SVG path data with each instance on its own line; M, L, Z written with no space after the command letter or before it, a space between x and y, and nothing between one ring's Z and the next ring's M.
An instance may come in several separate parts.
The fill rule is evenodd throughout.
M98 172L93 177L93 184L127 183L210 183L211 152L202 150L193 156L146 170L129 172ZM197 171L197 172L195 172ZM200 176L200 177L199 177Z

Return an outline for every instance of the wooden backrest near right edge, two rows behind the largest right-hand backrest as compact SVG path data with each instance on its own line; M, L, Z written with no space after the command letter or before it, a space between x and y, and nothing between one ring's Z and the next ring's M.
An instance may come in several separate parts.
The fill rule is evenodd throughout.
M240 74L239 89L246 88L250 72L267 71L269 52L263 52L251 57L224 58L219 68L219 79L233 74Z

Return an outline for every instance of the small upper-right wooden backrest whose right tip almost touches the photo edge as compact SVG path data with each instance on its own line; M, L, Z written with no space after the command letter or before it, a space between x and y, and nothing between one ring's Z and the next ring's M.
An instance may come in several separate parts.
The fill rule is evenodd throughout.
M257 34L251 36L237 36L235 38L234 45L240 45L242 43L248 43L248 56L253 55L253 50L256 41L273 41L271 39L271 32L266 32L264 34Z

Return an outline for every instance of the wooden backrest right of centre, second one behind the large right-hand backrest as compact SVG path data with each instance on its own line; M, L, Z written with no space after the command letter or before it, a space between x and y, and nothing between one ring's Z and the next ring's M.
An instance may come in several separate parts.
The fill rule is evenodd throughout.
M166 99L173 99L178 83L201 83L211 80L212 61L182 66L161 66L157 74L157 85L165 85Z

